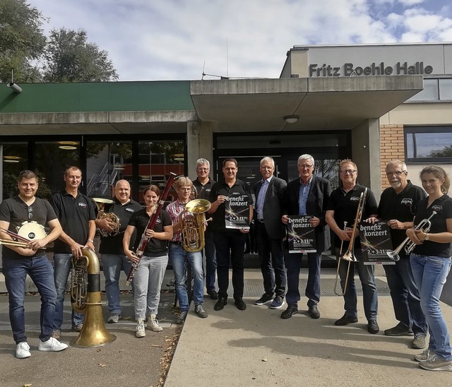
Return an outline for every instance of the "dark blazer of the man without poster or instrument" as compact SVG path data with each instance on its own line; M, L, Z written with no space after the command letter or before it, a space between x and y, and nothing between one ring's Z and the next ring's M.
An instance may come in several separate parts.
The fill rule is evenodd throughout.
M283 217L283 201L287 183L279 177L273 176L268 185L266 197L263 201L263 224L271 239L282 239L285 237L285 225L281 221ZM254 219L257 217L257 198L262 188L262 180L254 184L254 195L256 196L256 210Z

